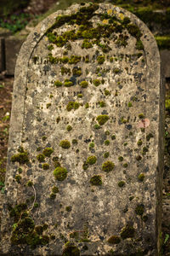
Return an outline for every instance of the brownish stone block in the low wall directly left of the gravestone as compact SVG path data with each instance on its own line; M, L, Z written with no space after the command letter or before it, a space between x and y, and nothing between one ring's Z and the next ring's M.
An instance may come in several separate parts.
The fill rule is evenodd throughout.
M5 39L5 56L6 70L8 75L14 75L14 67L23 39L6 38Z

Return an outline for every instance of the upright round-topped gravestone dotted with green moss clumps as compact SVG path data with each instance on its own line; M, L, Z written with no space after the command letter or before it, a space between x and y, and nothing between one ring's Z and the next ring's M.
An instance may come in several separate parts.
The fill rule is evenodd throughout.
M43 20L15 70L3 253L157 255L163 98L134 15L89 3Z

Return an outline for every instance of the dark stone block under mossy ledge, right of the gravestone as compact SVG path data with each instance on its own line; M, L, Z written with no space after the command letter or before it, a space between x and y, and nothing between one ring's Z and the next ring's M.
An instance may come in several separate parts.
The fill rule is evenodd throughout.
M170 78L170 50L160 50L162 73L165 78Z

